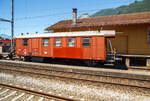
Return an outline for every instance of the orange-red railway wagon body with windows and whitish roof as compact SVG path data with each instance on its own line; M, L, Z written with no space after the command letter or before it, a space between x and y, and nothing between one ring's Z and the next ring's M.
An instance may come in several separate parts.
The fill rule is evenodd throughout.
M20 35L16 55L105 61L106 38L114 36L107 30Z

